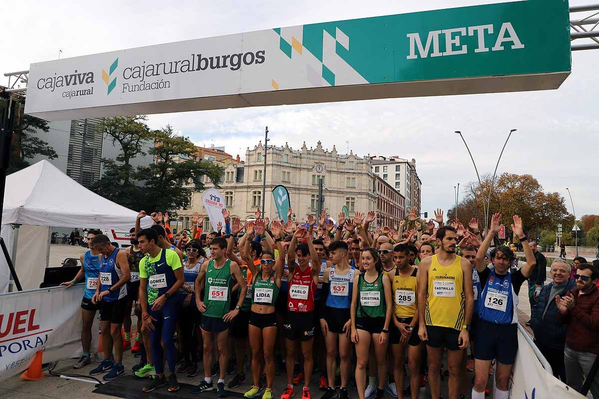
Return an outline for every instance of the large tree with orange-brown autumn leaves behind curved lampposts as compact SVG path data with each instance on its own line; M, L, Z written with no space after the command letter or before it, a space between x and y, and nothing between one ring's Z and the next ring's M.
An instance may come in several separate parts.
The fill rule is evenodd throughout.
M489 198L491 176L483 176L482 184L470 182L466 186L465 197L458 204L458 219L485 220L483 200ZM498 212L504 215L502 223L510 226L511 215L519 215L527 221L528 234L535 236L542 230L555 231L558 223L574 226L574 217L565 205L565 198L559 193L546 193L543 186L531 175L503 173L495 178L489 205L489 215ZM455 219L455 208L447 213ZM484 223L483 223L484 225Z

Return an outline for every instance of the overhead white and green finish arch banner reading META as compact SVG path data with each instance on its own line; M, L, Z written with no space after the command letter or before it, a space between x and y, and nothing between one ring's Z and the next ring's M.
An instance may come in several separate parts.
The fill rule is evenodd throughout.
M568 2L527 0L274 28L30 67L47 120L557 89Z

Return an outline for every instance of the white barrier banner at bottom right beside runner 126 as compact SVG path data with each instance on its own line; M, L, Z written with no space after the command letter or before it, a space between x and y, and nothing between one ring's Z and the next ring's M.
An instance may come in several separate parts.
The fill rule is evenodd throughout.
M518 354L512 374L510 399L540 398L583 399L584 397L543 368L524 334L518 330Z

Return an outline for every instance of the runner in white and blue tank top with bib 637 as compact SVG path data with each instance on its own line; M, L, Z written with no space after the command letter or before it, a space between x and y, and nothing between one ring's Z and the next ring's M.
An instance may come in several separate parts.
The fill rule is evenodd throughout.
M347 381L352 370L349 331L352 328L350 307L352 306L353 278L359 270L347 263L347 243L333 241L329 244L332 266L325 270L322 282L322 304L320 328L326 344L326 372L328 388L322 399L332 399L337 374L337 348L341 359L340 399L348 399ZM338 346L337 346L338 343Z

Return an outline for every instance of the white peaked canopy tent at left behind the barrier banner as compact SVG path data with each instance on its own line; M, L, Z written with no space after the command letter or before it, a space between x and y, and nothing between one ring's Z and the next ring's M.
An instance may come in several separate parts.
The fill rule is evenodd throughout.
M49 266L51 226L128 231L136 217L136 211L87 190L43 160L7 176L1 234L28 290L39 287ZM142 227L151 224L149 217L142 220ZM0 252L0 293L8 290L9 278Z

